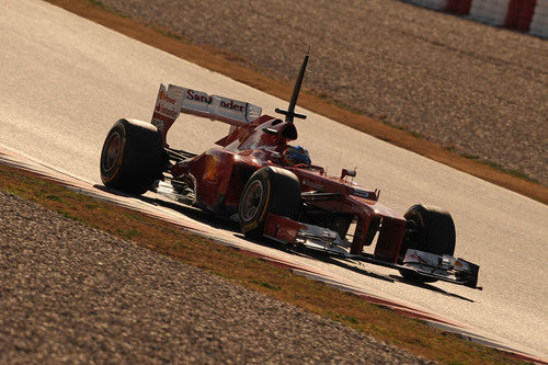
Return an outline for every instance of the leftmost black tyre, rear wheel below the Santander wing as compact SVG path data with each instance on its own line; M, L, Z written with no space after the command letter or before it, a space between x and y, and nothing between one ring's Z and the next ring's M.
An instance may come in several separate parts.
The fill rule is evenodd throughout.
M144 194L165 166L162 138L153 125L135 119L114 124L101 151L101 180L107 187Z

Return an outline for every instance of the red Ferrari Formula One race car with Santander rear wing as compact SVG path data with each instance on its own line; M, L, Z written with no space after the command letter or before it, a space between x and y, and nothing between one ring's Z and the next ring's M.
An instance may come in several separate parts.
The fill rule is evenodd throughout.
M284 119L230 98L160 85L151 123L122 118L101 153L105 186L153 191L239 221L246 237L267 238L349 260L399 270L410 281L478 288L479 266L453 256L455 226L438 208L413 205L404 215L379 203L379 191L354 183L355 170L330 176L310 163L297 139L295 112L305 56ZM181 113L230 125L218 148L195 155L171 148L167 134ZM375 244L374 253L364 248ZM373 249L373 248L372 248Z

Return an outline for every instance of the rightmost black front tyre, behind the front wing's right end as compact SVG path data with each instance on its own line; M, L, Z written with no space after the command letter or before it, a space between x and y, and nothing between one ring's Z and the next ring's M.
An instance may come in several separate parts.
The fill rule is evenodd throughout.
M435 254L454 254L455 224L448 212L416 204L409 208L403 216L408 221L400 250L400 263L403 262L408 249ZM434 283L437 281L409 270L400 270L400 274L415 282Z

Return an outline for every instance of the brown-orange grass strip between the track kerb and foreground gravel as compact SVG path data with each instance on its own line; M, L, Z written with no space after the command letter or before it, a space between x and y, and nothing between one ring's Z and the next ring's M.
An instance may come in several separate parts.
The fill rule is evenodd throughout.
M505 353L403 317L356 295L329 287L259 258L185 232L30 172L0 164L0 190L22 196L69 219L225 277L237 285L347 324L410 352L447 364L515 364Z

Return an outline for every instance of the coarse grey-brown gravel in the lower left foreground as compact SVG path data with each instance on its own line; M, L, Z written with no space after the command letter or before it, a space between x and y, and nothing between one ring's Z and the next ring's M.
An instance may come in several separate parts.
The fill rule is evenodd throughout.
M0 191L0 363L429 364Z

